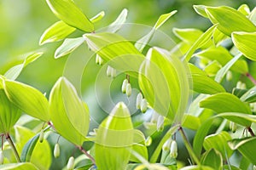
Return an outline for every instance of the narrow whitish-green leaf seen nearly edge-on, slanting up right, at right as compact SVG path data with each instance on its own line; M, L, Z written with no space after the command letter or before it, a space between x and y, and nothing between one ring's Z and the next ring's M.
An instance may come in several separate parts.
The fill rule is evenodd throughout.
M222 67L216 74L216 77L214 78L214 80L216 82L221 82L222 79L224 78L225 74L230 70L230 68L232 67L232 65L234 65L236 63L236 61L238 59L241 58L241 54L237 54L233 59L231 59L226 65L224 65L224 67Z

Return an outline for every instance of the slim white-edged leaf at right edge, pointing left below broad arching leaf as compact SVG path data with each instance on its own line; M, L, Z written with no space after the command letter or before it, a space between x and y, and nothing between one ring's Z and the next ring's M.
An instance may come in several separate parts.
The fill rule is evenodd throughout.
M237 113L237 112L225 112L218 114L218 116L224 117L231 122L236 122L244 127L250 127L252 122L256 122L256 116L248 115L244 113Z

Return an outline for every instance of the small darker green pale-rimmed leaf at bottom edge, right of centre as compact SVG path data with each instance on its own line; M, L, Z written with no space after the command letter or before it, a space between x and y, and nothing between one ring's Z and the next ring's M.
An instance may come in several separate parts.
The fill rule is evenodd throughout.
M201 158L201 164L212 167L213 169L221 170L223 167L223 159L218 150L207 150Z

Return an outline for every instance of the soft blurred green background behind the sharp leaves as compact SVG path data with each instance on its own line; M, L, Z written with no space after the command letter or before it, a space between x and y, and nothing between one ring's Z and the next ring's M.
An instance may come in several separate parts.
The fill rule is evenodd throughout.
M193 4L209 6L228 5L233 8L238 8L242 3L247 3L251 9L256 6L255 0L74 0L74 2L89 18L102 10L105 11L105 17L103 20L96 23L96 29L108 26L108 24L116 19L123 8L129 10L127 19L129 23L138 23L147 26L154 26L160 14L165 14L177 9L177 14L161 27L161 31L165 31L166 34L172 37L176 42L178 40L172 34L173 27L198 28L205 31L207 27L211 26L211 23L207 19L195 13ZM32 63L32 65L28 65L26 69L22 71L18 80L20 82L26 82L49 95L50 88L52 88L55 81L63 74L67 56L61 59L54 59L55 49L61 45L61 42L45 44L42 47L38 45L38 42L44 30L57 20L58 19L52 14L44 0L1 0L0 74L4 74L11 66L20 63L22 59L26 57L24 54L34 50L43 50L44 55ZM76 32L70 37L75 37L80 34L81 32ZM79 48L75 54L84 56L81 48ZM76 65L73 65L73 67L75 70ZM89 65L87 65L84 70L84 100L88 103L90 112L92 113L99 111L99 106L96 105L95 102L94 83L96 81L96 73L100 68L99 65L95 64L94 60L90 60ZM111 88L119 88L124 78L124 75L123 77L118 77L117 80L114 81L116 83L114 83ZM132 81L134 82L133 87L136 87L136 80L131 79L131 82ZM100 122L102 116L94 118L98 119L96 122ZM191 134L193 133L189 133L189 136ZM55 144L55 138L56 136L49 137L51 147L53 147L52 144ZM69 147L71 147L70 145L71 144L69 144ZM63 167L66 160L67 157L59 162L54 161L52 169Z

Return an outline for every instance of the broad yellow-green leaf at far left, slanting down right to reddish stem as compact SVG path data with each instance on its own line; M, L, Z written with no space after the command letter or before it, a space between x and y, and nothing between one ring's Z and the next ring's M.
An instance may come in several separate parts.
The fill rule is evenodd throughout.
M9 100L21 111L44 122L49 122L49 103L38 89L21 82L5 80L4 91Z

